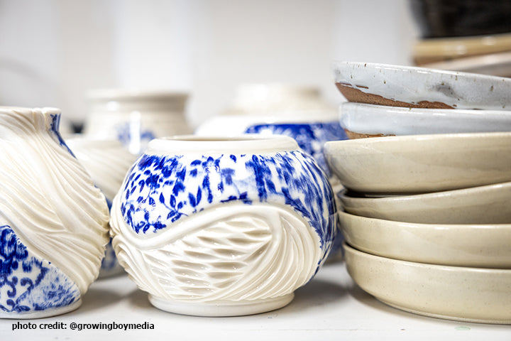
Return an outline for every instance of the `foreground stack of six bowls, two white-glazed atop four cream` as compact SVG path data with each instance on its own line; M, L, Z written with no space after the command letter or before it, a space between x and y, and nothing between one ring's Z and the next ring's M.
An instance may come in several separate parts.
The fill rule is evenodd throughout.
M341 105L341 125L358 139L324 148L345 188L339 221L353 280L402 310L511 323L511 79L334 70L345 97L366 102Z

